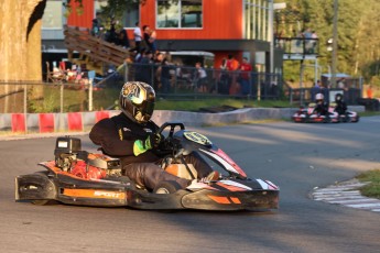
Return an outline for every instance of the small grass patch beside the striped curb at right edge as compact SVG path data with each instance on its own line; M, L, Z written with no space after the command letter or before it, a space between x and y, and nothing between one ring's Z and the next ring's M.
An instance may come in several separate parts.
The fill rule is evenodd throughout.
M363 196L380 199L380 169L371 169L356 177L360 182L369 182L368 185L360 188Z

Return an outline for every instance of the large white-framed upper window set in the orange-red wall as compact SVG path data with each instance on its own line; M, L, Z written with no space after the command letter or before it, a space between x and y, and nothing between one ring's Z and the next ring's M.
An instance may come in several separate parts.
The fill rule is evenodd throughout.
M202 28L202 1L203 0L158 0L156 28Z

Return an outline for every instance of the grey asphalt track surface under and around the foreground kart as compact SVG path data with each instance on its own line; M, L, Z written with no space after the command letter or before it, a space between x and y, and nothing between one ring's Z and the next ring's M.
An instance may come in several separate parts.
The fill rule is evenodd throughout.
M380 213L315 201L315 187L379 168L380 117L197 129L249 176L281 187L272 212L172 213L14 201L14 177L53 158L54 138L0 141L0 251L379 252ZM86 135L84 148L95 151Z

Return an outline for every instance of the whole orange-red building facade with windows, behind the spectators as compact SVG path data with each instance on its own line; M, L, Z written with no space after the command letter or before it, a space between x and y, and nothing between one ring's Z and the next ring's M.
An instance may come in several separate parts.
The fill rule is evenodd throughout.
M76 4L76 3L74 3ZM65 18L61 0L47 0L43 16L43 52L64 52L63 25L91 28L105 0L83 0ZM258 72L282 72L282 55L273 46L273 0L146 0L126 10L120 20L129 38L134 23L149 25L160 51L205 51L215 54L214 67L222 58L247 57Z

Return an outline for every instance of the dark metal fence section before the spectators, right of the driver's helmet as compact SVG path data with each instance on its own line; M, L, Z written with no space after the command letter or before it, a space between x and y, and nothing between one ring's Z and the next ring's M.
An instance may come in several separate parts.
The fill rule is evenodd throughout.
M280 99L283 94L282 77L276 74L139 63L127 65L124 72L128 80L151 84L165 98Z

